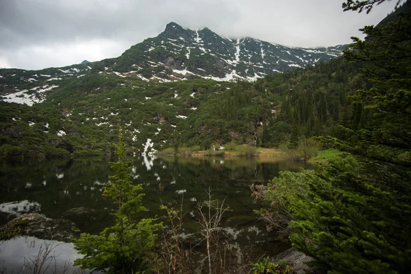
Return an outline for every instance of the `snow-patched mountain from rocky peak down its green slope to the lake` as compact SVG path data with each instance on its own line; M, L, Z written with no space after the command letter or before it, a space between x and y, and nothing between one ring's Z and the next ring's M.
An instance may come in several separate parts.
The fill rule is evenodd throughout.
M176 144L253 144L284 95L297 90L299 80L278 72L317 63L321 69L321 61L344 47L233 40L169 23L118 58L0 69L0 160L110 153L119 126L127 146L140 153ZM347 77L341 69L332 72L334 79ZM277 76L267 84L265 75ZM236 78L254 82L231 81Z

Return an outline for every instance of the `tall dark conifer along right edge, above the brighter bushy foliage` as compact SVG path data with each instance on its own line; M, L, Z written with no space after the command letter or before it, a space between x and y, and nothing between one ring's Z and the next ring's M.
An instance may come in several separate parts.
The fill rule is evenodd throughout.
M344 52L345 60L362 64L361 72L372 86L361 88L349 98L352 114L346 118L351 123L342 123L338 137L355 144L351 151L397 161L391 153L380 151L391 149L403 154L411 149L410 3L391 19L377 27L364 27L366 40L353 38L353 50ZM401 163L409 164L408 160Z

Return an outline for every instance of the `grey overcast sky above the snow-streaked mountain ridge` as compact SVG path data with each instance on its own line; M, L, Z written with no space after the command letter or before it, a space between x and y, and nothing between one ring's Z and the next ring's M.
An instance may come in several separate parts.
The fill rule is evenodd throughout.
M396 1L370 14L343 12L343 0L0 0L0 68L42 69L121 55L167 23L208 27L295 47L349 43Z

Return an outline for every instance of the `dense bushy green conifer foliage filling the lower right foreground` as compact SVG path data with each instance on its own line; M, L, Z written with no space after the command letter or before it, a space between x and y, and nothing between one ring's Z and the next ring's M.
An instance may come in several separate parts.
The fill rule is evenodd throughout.
M404 273L410 268L411 206L392 185L410 173L392 165L363 164L342 155L321 173L281 173L256 197L270 207L258 211L286 228L293 247L331 273ZM280 222L284 227L278 227ZM287 222L289 225L287 225Z

